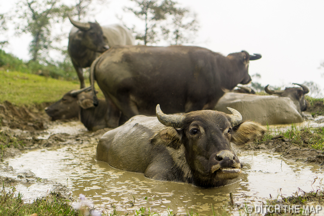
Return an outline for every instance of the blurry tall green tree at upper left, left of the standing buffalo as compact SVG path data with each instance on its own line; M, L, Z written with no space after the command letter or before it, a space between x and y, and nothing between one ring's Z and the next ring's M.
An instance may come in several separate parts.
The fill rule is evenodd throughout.
M61 37L52 35L53 27L56 23L63 23L68 11L71 8L60 4L60 0L25 0L17 3L17 33L30 33L33 38L29 45L31 61L48 56L48 51L55 48L52 41L59 41Z

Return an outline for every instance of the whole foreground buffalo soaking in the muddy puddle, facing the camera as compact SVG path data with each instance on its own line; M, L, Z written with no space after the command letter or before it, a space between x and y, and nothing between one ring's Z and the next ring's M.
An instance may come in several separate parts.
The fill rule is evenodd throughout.
M169 116L157 105L157 119L137 115L106 132L96 158L156 180L203 188L226 185L240 176L242 168L231 143L254 141L266 131L258 123L241 123L240 113L228 109L231 115L199 110Z

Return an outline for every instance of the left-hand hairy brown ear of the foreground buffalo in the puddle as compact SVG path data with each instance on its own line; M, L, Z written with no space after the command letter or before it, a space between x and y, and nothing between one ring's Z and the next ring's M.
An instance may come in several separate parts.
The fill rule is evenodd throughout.
M179 149L181 146L182 133L173 127L166 127L157 131L149 140L152 145L168 146Z

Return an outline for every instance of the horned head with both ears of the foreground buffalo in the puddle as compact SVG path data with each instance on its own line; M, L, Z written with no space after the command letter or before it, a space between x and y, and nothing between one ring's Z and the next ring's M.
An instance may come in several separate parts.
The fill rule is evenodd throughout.
M258 123L241 123L241 114L235 109L227 109L232 112L231 115L215 110L200 110L169 116L157 105L156 116L168 127L156 132L150 142L153 146L184 151L188 168L183 172L189 172L194 185L225 185L229 179L240 176L242 168L231 143L242 145L254 141L266 131Z

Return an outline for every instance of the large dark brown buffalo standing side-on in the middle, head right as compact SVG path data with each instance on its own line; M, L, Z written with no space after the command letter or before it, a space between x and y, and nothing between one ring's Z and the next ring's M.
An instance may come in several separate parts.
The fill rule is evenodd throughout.
M154 115L156 104L166 113L213 109L224 89L248 84L246 51L223 56L194 46L114 46L91 65L106 97L107 125L115 128L138 114ZM94 90L94 88L93 88Z

